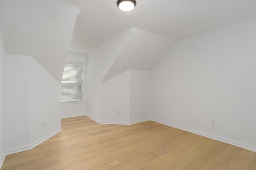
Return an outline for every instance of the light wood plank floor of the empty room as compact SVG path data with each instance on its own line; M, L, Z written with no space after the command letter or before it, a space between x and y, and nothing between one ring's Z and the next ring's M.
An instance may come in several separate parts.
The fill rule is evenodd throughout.
M256 170L256 152L153 121L62 119L62 132L6 156L2 170Z

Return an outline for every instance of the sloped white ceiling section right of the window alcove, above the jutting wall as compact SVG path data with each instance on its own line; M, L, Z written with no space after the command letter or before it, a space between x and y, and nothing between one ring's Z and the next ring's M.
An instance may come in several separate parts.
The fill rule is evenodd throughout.
M175 41L134 28L102 82L128 69L150 71L174 45Z

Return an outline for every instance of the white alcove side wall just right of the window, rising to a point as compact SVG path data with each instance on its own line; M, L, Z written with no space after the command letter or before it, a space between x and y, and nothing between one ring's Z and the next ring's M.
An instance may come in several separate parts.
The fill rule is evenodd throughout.
M129 34L104 45L88 56L86 80L86 115L100 120L100 82L108 72Z

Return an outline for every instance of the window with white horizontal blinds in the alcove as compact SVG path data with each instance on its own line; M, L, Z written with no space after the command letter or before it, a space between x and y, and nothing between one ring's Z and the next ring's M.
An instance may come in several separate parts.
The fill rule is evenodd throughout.
M61 102L83 101L84 65L66 63L61 81Z

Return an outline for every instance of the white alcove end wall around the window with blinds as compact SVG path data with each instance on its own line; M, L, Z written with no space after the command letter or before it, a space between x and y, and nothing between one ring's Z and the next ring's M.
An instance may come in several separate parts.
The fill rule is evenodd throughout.
M65 118L86 115L86 55L68 53L66 62L84 64L84 101L76 103L62 103L61 117Z

